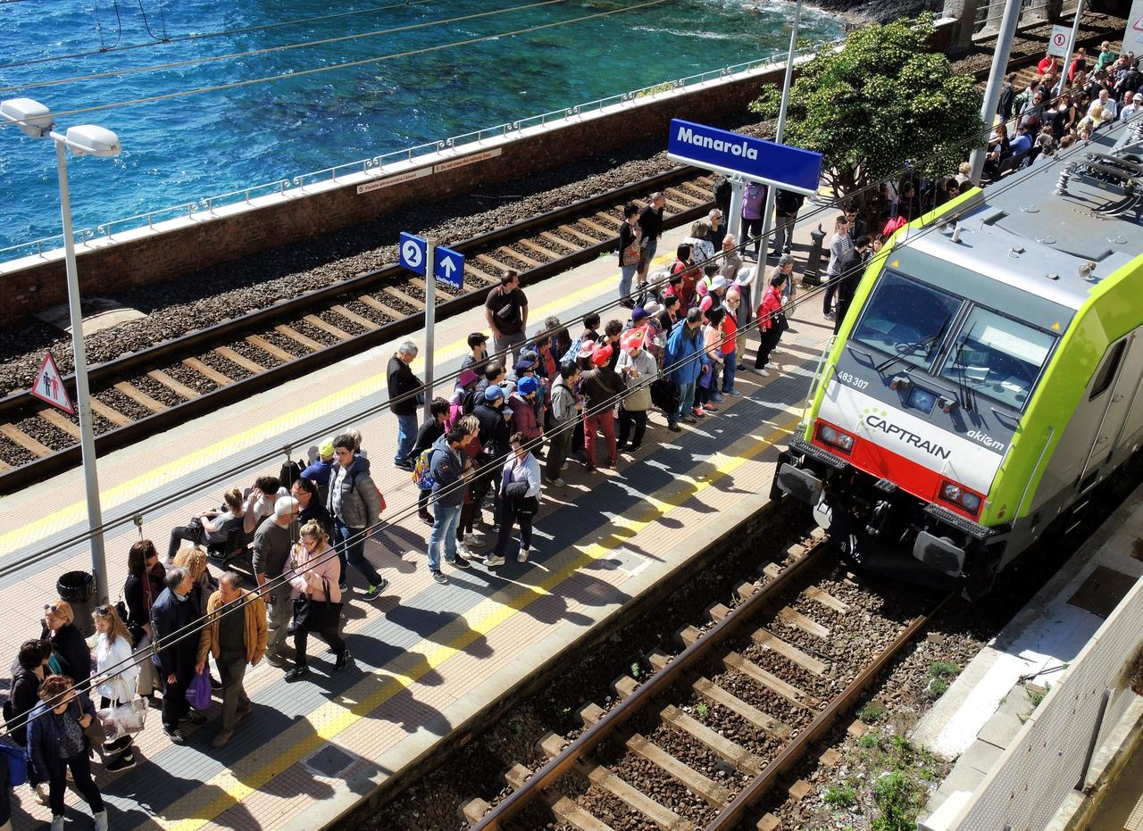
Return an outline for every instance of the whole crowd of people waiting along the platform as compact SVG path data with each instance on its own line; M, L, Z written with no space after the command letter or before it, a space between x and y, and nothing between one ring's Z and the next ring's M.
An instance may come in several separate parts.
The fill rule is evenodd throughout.
M1060 72L1046 58L1028 89L1016 93L1009 82L999 115L1014 131L998 125L986 173L1037 163L1037 155L1050 157L1143 109L1132 54L1116 55L1104 45L1089 62L1080 49L1055 96ZM869 258L897 227L954 198L969 174L966 163L956 176L925 181L909 169L866 195L861 211L844 207L829 239L822 291L822 311L836 327ZM737 378L748 366L769 375L789 327L792 229L802 198L776 194L775 232L764 251L766 195L762 185L745 186L740 218L749 242L740 246L727 233L729 194L720 187L718 207L690 226L673 262L656 272L650 266L663 234L664 194L624 206L616 304L623 311L606 322L598 312L570 326L549 317L529 337L520 277L505 272L486 297L487 331L469 335L451 393L427 408L411 368L417 344L397 347L387 365L389 408L397 418L392 458L417 487L417 516L431 527L426 566L437 583L448 583L446 565L528 562L536 556L533 522L544 488L567 486L568 465L586 476L617 468L621 456L653 440L652 410L680 432L741 395ZM756 287L762 256L773 269ZM745 335L754 328L759 343L750 365ZM222 748L254 714L243 688L249 666L265 660L287 681L303 680L314 634L329 647L330 671L352 668L342 637L350 566L361 597L381 597L387 581L366 558L365 541L379 528L384 509L361 436L345 431L312 448L304 462L283 465L278 477L225 489L217 509L170 530L166 558L152 542L136 542L122 601L95 610L94 648L69 604L48 604L40 637L23 642L11 665L3 717L10 741L25 752L35 798L50 806L53 831L63 828L67 780L88 802L96 829L107 828L90 759L97 753L109 773L134 767L133 736L147 706L160 711L169 740L184 744L184 726L206 720L200 705L213 690L222 714L211 745ZM487 533L478 536L481 528ZM253 586L226 567L235 551L250 554ZM211 558L222 561L217 575ZM6 764L0 753L0 767Z

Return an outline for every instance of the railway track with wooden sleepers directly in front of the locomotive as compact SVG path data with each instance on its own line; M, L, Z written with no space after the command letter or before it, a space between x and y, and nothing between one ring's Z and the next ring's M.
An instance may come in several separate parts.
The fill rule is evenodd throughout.
M738 586L733 610L710 607L709 629L681 630L680 654L649 653L653 674L620 677L610 710L581 708L574 741L541 740L549 760L539 770L513 765L506 797L462 806L471 831L553 821L580 831L777 828L757 815L759 800L776 786L796 798L813 792L791 770L948 599L905 617L902 607L882 609L856 578L830 576L829 550L822 537L792 546L784 566L768 564ZM870 647L839 655L831 645L855 621ZM836 764L818 752L820 764Z

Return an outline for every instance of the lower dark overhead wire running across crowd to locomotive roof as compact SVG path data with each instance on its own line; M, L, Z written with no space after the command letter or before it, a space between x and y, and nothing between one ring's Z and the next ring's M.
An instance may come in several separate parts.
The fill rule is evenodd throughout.
M1000 192L1005 192L1007 190L1010 190L1012 187L1015 187L1015 186L1022 184L1023 182L1028 181L1029 178L1031 178L1033 176L1037 176L1037 175L1040 175L1044 171L1049 170L1049 169L1050 168L1048 166L1042 166L1040 168L1030 168L1023 175L1017 174L1017 175L1012 176L1008 182L999 185L996 192L1000 193ZM876 257L888 258L890 250L897 250L898 248L906 248L911 243L913 243L916 240L920 239L921 237L927 235L929 233L933 233L934 231L938 231L942 226L943 226L943 223L938 223L938 222L934 222L934 223L932 223L929 225L926 225L926 226L919 229L916 233L910 233L908 235L904 235L903 239L902 239L902 241L900 242L900 245L894 246L893 249L888 249L888 248L882 249L882 253L879 253L879 254L874 255L874 257L871 257L870 262L862 263L862 264L855 266L850 272L846 272L844 274L839 274L838 277L833 278L832 280L828 280L828 281L823 282L822 285L820 285L820 286L817 286L817 287L815 287L815 288L813 288L813 289L810 289L808 291L801 291L800 295L799 295L799 297L797 299L792 298L789 303L785 304L785 306L782 310L783 313L784 313L784 311L785 311L786 307L794 307L796 309L800 303L804 303L804 302L806 302L808 299L812 299L812 298L816 298L822 291L824 291L826 289L828 286L834 285L837 282L840 282L841 280L845 280L845 279L849 278L853 272L858 272L858 271L860 272L864 272L869 267L869 265L870 265L870 263L872 262L873 258L876 258ZM719 258L721 258L722 256L724 256L724 254L717 254L714 257L711 257L711 258L709 258L706 261L703 261L702 263L695 264L695 267L701 267L702 265L704 265L706 263L716 262ZM604 307L607 309L607 307L610 307L612 305L614 305L614 304L607 304ZM768 317L772 317L772 315L768 315ZM760 328L761 322L762 322L762 318L760 318L760 317L756 318L754 320L750 321L745 326L738 327L738 331L750 331L750 330ZM686 323L684 323L684 325L686 325ZM735 339L737 338L737 333L735 333L734 338ZM729 339L732 339L729 336L722 336L722 337L718 338L712 344L712 346L720 346L721 344L727 343ZM700 351L703 351L703 349L704 347L700 347ZM634 389L640 389L642 386L650 385L657 377L665 376L668 373L671 373L674 369L678 369L678 368L680 368L680 367L685 366L686 363L688 363L690 361L694 361L694 360L698 360L697 354L690 355L688 358L685 358L685 359L678 361L674 365L664 366L656 374L655 377L650 377L650 378L647 378L647 379L640 382L640 384L637 385ZM589 410L584 411L583 415L585 415L585 416L586 415L597 415L599 413L612 410L631 391L632 391L631 387L624 389L618 394L613 395L613 397L606 399L605 401L599 402L598 406L591 407ZM411 392L408 395L410 397L413 394L416 394L416 393ZM394 400L403 400L403 398L402 399L394 399ZM553 434L553 433L559 433L562 430L574 430L575 426L576 426L576 422L575 421L570 421L570 422L567 422L566 424L559 425L555 430L550 431L550 433L547 433L546 436L550 436L550 434ZM544 437L541 437L539 439L533 439L533 440L527 441L526 442L526 447L528 447L530 449L533 447L539 446L543 442L543 438ZM505 464L511 458L512 455L514 455L514 452L510 450L509 453L505 453L505 454L503 454L501 456L497 456L496 458L494 458L493 461L488 462L487 464L493 469L493 471L495 471L498 465ZM461 488L467 487L467 484L469 484L467 480L462 479L462 480L458 480L458 481L454 482L450 486L447 486L445 488L439 489L437 493L445 493L445 494L454 493L456 489L461 489ZM374 525L374 526L371 526L369 528L366 528L360 534L353 535L353 537L351 537L350 540L346 540L344 542L344 545L347 546L349 544L351 544L353 542L358 542L358 541L363 542L365 540L367 540L368 537L373 536L374 534L377 534L381 530L384 530L385 528L387 528L389 526L391 526L394 521L399 521L401 519L406 519L408 517L411 517L413 512L416 511L416 510L418 510L418 508L417 508L417 505L415 503L408 505L405 509L398 509L398 511L395 512L397 516L394 518L378 521L376 525ZM326 553L321 554L317 560L314 560L311 564L309 564L306 568L302 569L302 573L304 573L306 570L311 570L314 566L323 564L323 562L328 561L329 559L331 559L334 557L337 557L337 556L338 556L337 548L330 545L329 550ZM262 586L257 586L254 591L247 592L246 596L245 596L245 599L243 599L243 601L241 604L231 606L230 608L223 607L223 609L219 609L217 613L215 613L214 616L207 615L207 616L202 616L202 617L195 620L194 622L192 622L192 623L187 624L186 626L184 626L182 630L178 630L178 631L171 633L169 637L162 638L162 639L155 641L155 644L153 644L150 649L144 649L141 653L133 654L130 657L125 658L123 661L118 662L118 663L115 663L115 664L106 668L106 670L103 673L101 673L99 676L93 676L88 681L86 681L83 684L80 684L80 685L75 685L74 687L70 688L69 690L65 690L64 693L59 694L59 696L56 696L55 698L48 700L47 703L50 705L53 701L56 701L56 702L62 701L62 698L64 696L69 695L71 692L87 692L91 687L96 686L96 684L99 682L101 679L105 679L105 678L119 674L119 672L121 672L122 670L128 669L129 666L136 665L138 663L142 663L142 661L144 661L144 660L151 660L151 652L152 652L152 649L168 648L171 645L178 644L178 642L185 640L186 638L193 637L195 634L199 634L199 637L201 637L202 630L206 629L206 626L209 625L213 621L215 621L218 617L222 617L223 615L226 615L226 614L234 614L235 612L238 612L240 609L245 610L245 606L250 601L251 597L264 598L265 596L270 594L271 592L275 591L277 589L285 588L285 585L288 584L287 574L295 574L295 573L296 573L296 569L291 569L289 572L283 572L282 575L278 575L278 576L275 576L275 577L273 577L271 580L267 580ZM119 672L114 672L113 670L118 670ZM48 711L50 711L50 710L46 710L43 712L48 712ZM24 724L26 725L29 721L31 721L30 718L26 719ZM10 732L10 728L7 725L5 725L3 730L0 732L0 737L7 735L9 732Z

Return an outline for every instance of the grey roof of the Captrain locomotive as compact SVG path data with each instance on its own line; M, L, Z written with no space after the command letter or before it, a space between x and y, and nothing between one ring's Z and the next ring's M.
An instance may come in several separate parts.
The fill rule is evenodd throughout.
M1129 127L1140 123L1143 117L1129 125L1117 123L1089 142L1057 153L1052 161L1017 170L969 197L951 214L958 218L959 241L954 240L952 224L948 224L935 233L910 234L905 248L951 261L1065 307L1080 309L1101 278L1143 253L1143 165L1125 174L1114 165L1109 167L1109 160L1092 157L1121 158L1122 145L1130 144ZM1130 146L1133 153L1143 155L1137 144ZM1069 163L1086 166L1090 161L1105 169L1088 171L1108 182L1073 174L1066 193L1054 192ZM1129 161L1126 166L1130 170ZM1101 213L1128 201L1132 189L1140 192L1132 209Z

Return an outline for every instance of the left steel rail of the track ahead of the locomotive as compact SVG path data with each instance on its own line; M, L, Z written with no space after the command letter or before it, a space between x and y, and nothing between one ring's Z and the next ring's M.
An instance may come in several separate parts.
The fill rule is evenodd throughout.
M519 815L534 799L539 797L544 789L553 785L558 778L569 773L580 759L591 752L600 742L614 735L623 724L637 714L655 696L677 684L689 666L709 656L719 644L735 634L744 622L766 608L767 604L789 589L794 581L805 576L810 567L817 564L818 558L828 548L825 543L816 545L800 560L784 568L774 581L732 609L730 614L706 630L698 640L679 653L666 666L647 679L598 722L580 734L558 757L549 760L523 785L481 817L480 822L473 825L470 831L494 831L503 828L503 823Z

